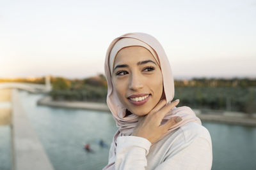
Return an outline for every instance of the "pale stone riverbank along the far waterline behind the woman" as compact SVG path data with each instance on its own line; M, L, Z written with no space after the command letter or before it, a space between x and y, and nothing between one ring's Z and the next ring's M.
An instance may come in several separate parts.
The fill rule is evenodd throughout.
M45 96L38 100L38 105L60 108L76 108L85 110L109 111L107 104L82 101L53 101ZM193 109L194 110L194 109ZM203 122L217 122L225 124L248 125L256 127L256 115L248 117L245 113L232 111L194 110L196 116Z

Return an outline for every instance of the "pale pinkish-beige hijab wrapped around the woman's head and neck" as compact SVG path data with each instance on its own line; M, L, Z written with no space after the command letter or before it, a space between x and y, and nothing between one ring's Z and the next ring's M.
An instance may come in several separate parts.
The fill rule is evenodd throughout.
M129 38L129 39L136 39L142 42L140 46L143 46L144 48L147 48L152 55L157 60L157 64L159 64L162 74L163 74L163 87L164 87L164 94L166 97L166 102L169 103L172 101L174 97L174 81L173 81L173 75L172 75L172 69L170 66L170 63L168 61L168 58L164 52L163 47L157 41L156 38L145 34L141 32L134 32L134 33L128 33L124 34L116 39L114 39L111 44L109 45L108 51L106 53L106 60L105 60L105 74L108 81L108 97L107 97L107 103L108 107L113 114L113 118L115 119L116 126L118 127L118 131L116 131L116 134L113 137L113 146L114 146L114 155L116 154L116 138L118 136L131 136L132 131L134 127L136 126L138 122L138 116L136 115L129 115L125 117L126 114L126 108L122 105L122 103L119 101L118 97L116 96L116 92L113 89L113 82L111 78L111 72L113 67L113 62L115 61L115 56L112 56L111 52L113 50L113 46L115 47L115 44L120 41L120 39ZM127 41L124 41L127 42ZM129 41L130 42L130 41ZM118 47L119 49L122 49L127 46L138 46L138 41L136 44L132 43L119 43L118 45L122 44L122 46ZM117 52L116 52L117 53ZM157 56L156 56L157 55ZM111 62L111 64L109 64ZM182 117L182 121L178 124L175 124L173 127L171 127L166 134L169 134L173 130L179 128L180 126L188 123L188 122L197 122L198 124L201 124L201 121L199 118L196 117L195 113L191 110L191 108L183 106L179 108L173 108L170 110L169 113L166 114L166 116L163 119L163 122L166 120L169 120L172 117L179 116ZM166 136L164 134L164 136ZM162 136L161 139L164 138ZM104 167L104 169L115 169L115 159L111 159L109 161L109 164Z

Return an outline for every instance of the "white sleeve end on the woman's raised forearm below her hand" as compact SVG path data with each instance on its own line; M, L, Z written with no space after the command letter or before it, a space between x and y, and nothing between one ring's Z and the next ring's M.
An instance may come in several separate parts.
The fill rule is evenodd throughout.
M115 169L145 169L150 141L137 136L120 136L116 144Z

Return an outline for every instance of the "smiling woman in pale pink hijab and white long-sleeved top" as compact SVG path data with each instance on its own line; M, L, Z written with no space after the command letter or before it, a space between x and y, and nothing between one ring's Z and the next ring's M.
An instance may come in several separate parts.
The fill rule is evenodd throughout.
M118 131L104 169L211 169L211 136L190 108L171 103L171 67L154 37L129 33L114 39L105 73Z

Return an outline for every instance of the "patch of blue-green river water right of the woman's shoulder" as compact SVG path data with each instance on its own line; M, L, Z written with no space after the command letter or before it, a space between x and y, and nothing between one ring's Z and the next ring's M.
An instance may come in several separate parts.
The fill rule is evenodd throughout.
M255 169L256 128L204 123L212 138L212 169Z

